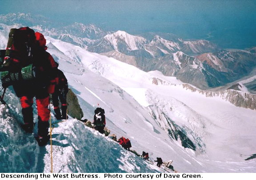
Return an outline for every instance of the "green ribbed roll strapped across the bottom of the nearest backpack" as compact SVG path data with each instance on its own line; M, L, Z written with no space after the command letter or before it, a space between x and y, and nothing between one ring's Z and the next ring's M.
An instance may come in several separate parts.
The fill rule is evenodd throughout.
M18 72L1 72L1 81L3 87L12 86L16 82L32 80L34 78L36 78L36 74L35 68L32 66L32 64L28 65L27 67L23 67Z

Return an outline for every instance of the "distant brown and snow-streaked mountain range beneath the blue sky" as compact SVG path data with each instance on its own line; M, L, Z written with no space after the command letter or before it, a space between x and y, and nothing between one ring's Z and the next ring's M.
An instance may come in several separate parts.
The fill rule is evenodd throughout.
M53 27L43 16L24 13L0 15L0 23L30 25L46 36L118 59L144 71L159 70L201 89L239 80L256 67L256 47L220 50L216 44L204 39L184 40L167 33L160 34L175 38L164 39L154 33L142 37L125 31L104 31L96 25L82 23ZM4 25L0 29L4 29Z

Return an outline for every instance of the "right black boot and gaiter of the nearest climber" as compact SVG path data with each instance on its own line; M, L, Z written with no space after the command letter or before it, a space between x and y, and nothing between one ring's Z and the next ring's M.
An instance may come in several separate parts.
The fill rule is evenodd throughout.
M48 132L49 122L41 121L40 118L38 120L38 137L36 137L36 141L39 146L44 146L48 143L50 139L50 135Z

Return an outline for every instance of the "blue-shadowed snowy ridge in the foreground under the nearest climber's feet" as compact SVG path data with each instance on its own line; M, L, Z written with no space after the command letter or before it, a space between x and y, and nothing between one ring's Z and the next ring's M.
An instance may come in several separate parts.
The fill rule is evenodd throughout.
M22 119L20 113L12 107L10 110L4 105L0 106L0 139L4 140L0 143L0 157L3 160L0 171L50 172L50 145L39 147L34 136L24 133L18 125ZM164 172L76 119L53 126L54 172ZM95 152L105 155L94 156ZM108 163L109 158L116 161Z

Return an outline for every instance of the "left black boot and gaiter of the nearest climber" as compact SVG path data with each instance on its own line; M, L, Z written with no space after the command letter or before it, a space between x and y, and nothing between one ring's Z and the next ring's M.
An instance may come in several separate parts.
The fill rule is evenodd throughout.
M33 121L33 108L32 107L23 108L21 112L22 112L23 121L24 121L24 124L21 125L22 129L24 129L26 133L33 133L33 129L35 125Z

